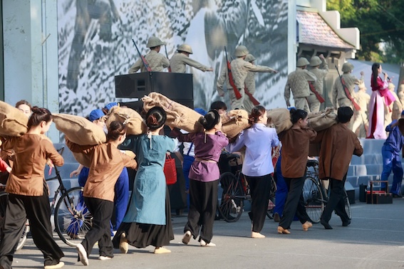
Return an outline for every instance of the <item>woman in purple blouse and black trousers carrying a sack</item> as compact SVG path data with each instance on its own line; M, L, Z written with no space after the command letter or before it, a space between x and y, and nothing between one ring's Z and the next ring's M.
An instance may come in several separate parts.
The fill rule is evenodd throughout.
M229 144L229 139L220 132L222 120L216 110L210 110L200 117L204 132L182 134L173 130L172 135L180 142L195 144L195 162L190 169L190 211L184 228L182 243L187 245L191 237L200 233L200 246L216 246L211 242L213 223L217 205L217 186L219 181L219 161L222 149Z

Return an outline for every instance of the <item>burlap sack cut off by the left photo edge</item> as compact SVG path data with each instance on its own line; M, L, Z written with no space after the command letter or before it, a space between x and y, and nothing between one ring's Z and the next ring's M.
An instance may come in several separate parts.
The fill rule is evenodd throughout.
M0 136L21 137L28 132L28 117L18 108L0 101Z

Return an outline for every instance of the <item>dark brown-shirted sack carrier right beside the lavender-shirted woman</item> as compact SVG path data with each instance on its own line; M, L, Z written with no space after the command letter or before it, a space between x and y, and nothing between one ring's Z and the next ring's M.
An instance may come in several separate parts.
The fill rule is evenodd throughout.
M290 233L289 228L296 213L302 223L303 231L307 231L313 224L306 213L301 194L306 174L309 143L316 138L316 131L307 127L307 112L291 109L291 129L281 132L282 142L281 172L284 176L289 193L286 198L284 212L278 226L278 233Z

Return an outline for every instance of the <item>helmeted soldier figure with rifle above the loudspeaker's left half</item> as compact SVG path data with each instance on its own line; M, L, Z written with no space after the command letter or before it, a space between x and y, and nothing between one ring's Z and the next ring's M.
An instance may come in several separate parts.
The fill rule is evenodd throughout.
M135 41L133 41L133 43L135 43ZM141 72L162 72L164 68L169 67L170 61L167 59L167 57L159 53L162 45L165 45L165 43L162 42L160 38L152 36L147 41L147 48L150 48L150 52L147 53L146 56L142 56L140 54L138 46L136 46L135 44L140 59L138 59L136 63L132 65L128 73L136 73L139 69Z

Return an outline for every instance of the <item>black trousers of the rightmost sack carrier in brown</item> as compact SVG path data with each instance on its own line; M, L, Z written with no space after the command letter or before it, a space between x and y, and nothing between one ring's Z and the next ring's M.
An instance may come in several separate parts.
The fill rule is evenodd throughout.
M345 186L346 174L342 180L330 179L331 194L326 208L321 215L323 221L330 221L331 214L336 211L336 214L341 217L341 221L346 222L349 220L348 214L345 211L345 200L343 199L343 188Z

